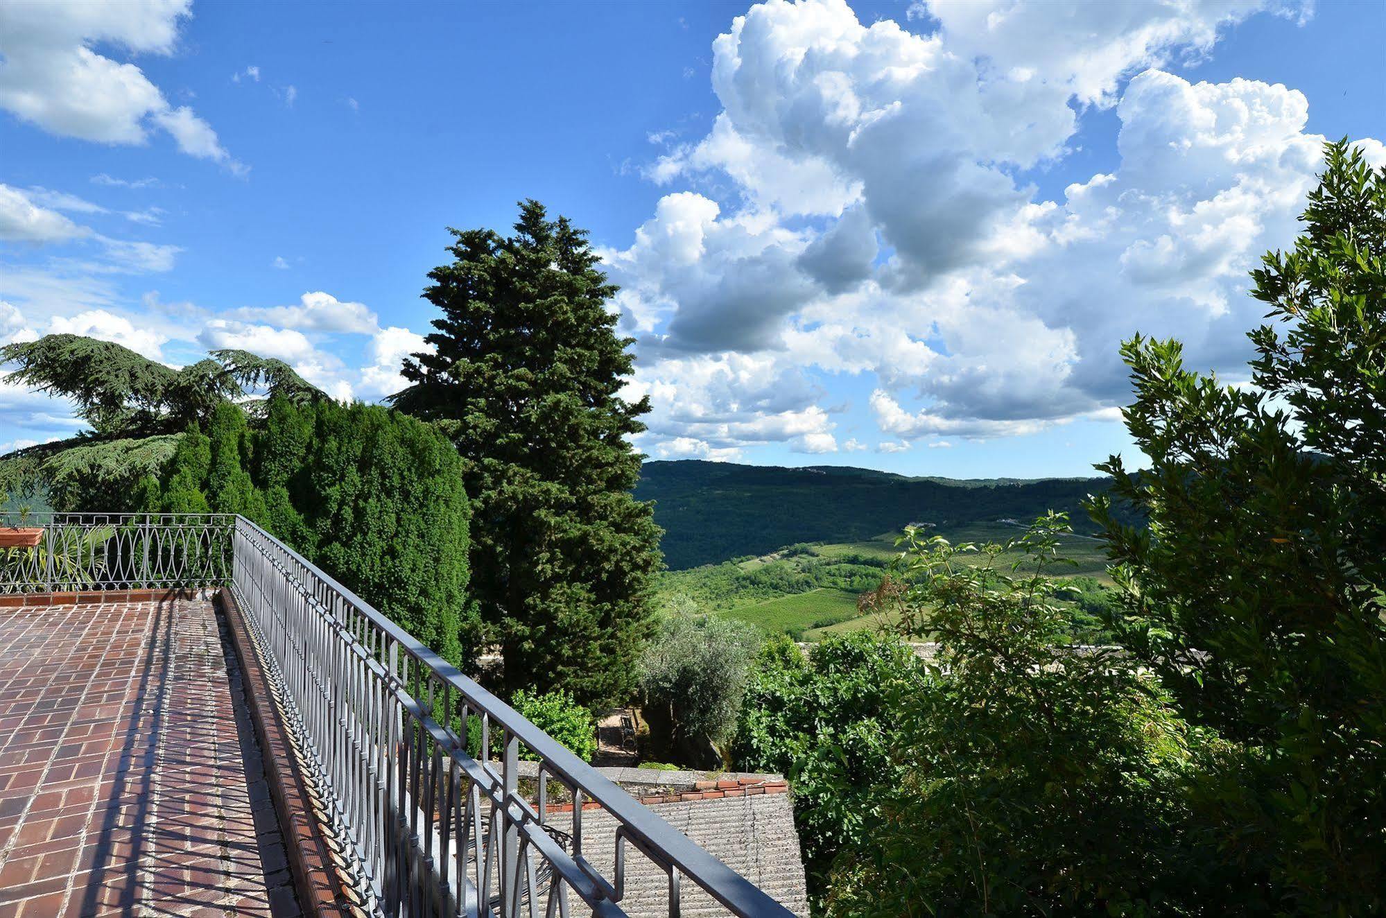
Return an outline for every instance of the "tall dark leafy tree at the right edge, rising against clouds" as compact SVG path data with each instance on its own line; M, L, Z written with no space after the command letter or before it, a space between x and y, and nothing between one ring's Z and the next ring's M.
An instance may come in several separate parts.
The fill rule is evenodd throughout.
M1326 147L1304 232L1254 272L1252 386L1123 348L1150 467L1095 502L1124 585L1113 630L1236 754L1200 778L1210 857L1246 907L1367 914L1386 890L1386 172Z

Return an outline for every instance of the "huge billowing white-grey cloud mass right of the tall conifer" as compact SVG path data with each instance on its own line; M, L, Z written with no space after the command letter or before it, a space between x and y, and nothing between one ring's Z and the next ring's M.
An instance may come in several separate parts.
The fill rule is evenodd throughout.
M901 25L769 0L737 17L714 43L711 130L651 137L668 194L604 252L633 390L656 397L643 445L845 451L819 408L841 379L869 380L884 452L1107 417L1138 330L1235 373L1261 312L1246 272L1293 239L1324 139L1293 89L1161 67L1257 12L1307 15L926 0ZM1033 177L1110 108L1120 165L1045 200Z

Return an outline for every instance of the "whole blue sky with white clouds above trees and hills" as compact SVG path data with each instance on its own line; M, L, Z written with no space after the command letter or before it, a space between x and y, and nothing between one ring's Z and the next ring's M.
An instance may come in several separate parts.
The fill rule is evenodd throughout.
M1238 379L1386 4L0 0L0 341L398 384L445 227L592 232L654 458L956 477L1127 449L1119 341ZM0 380L0 449L75 430Z

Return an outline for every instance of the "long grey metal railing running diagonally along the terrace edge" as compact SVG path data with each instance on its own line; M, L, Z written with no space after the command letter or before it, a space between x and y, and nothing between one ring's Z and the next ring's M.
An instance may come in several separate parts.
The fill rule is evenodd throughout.
M222 574L218 585L229 588L280 684L358 893L376 914L625 915L633 857L667 878L669 915L681 914L685 881L735 915L790 915L254 523L101 517L85 526L78 516L55 524L132 532L109 537L123 541L100 571L85 571L93 582L191 587ZM161 527L191 532L157 535ZM194 546L195 563L168 557L164 549L180 544ZM227 557L223 544L229 569L218 567ZM143 563L146 546L152 563L130 577L132 557ZM6 580L14 578L0 573L0 592ZM531 760L524 777L521 757ZM585 832L585 804L606 811L602 838ZM613 856L610 875L585 849Z

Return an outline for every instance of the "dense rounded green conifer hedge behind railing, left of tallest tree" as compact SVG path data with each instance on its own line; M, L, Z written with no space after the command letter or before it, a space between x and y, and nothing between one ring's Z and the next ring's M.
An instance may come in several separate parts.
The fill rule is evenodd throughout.
M241 513L456 664L475 655L462 460L378 405L274 398L263 428L230 402L179 438L141 509Z

